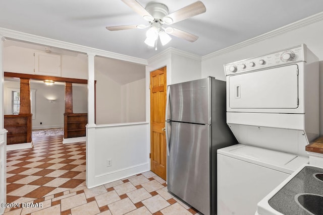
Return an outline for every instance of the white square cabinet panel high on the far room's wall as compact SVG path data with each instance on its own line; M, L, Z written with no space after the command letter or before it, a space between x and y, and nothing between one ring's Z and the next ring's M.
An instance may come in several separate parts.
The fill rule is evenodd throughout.
M61 55L35 51L35 75L61 76Z

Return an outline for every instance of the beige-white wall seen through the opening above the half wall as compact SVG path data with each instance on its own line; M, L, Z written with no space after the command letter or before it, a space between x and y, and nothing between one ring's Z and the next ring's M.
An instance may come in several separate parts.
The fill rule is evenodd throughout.
M143 65L95 57L96 124L146 121Z

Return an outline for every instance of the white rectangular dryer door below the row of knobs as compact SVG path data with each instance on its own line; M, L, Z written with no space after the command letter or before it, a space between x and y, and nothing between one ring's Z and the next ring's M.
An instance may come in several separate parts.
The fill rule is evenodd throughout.
M298 65L230 76L229 106L239 109L297 108Z

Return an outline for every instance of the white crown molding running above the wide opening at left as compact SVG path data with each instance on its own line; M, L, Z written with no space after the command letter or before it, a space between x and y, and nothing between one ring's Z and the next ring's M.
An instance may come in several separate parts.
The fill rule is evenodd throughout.
M118 54L110 51L104 51L96 48L91 48L87 46L60 41L60 40L50 39L50 38L41 37L33 34L27 34L27 33L14 31L6 28L0 28L0 36L3 36L7 39L14 39L14 40L26 41L26 42L47 45L47 46L52 46L57 48L63 48L63 49L68 49L71 51L81 52L85 54L91 53L98 56L110 57L114 59L125 60L125 61L144 64L144 65L148 64L147 60L142 58L132 57L124 54Z

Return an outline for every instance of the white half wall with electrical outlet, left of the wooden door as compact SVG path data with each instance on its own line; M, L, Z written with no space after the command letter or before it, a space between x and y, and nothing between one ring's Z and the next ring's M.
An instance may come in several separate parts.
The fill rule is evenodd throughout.
M148 131L147 123L96 128L96 183L103 184L149 170ZM106 166L107 159L112 159L111 167Z

